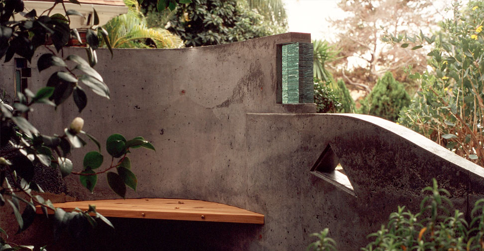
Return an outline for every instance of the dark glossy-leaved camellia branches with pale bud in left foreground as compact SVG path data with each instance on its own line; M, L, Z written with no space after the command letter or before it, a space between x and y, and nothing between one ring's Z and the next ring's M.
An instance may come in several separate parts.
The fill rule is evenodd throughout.
M190 2L160 0L160 5L164 4L171 8L182 1ZM77 0L70 2L79 4ZM65 13L51 14L58 4L63 6ZM22 18L19 20L17 15ZM90 192L94 191L98 176L106 173L109 186L116 194L124 197L126 186L135 190L137 185L128 154L139 147L154 150L153 145L140 136L127 140L121 134L115 133L106 139L105 148L111 161L103 165L103 147L94 136L83 131L82 118L74 119L64 131L54 135L42 134L25 119L34 107L48 105L54 109L71 96L81 113L87 106L84 88L91 89L101 97L110 97L108 86L93 68L98 61L98 35L113 53L108 33L99 27L99 17L94 10L94 25L86 31L87 60L78 55L64 55L63 48L70 39L82 41L79 32L70 28L72 15L82 14L76 10L66 9L63 1L55 1L52 7L37 13L35 9L26 10L23 0L0 0L0 59L8 62L16 55L31 62L37 49L42 47L47 52L40 55L37 60L38 71L51 67L56 69L45 83L45 87L35 92L29 89L18 91L14 103L11 103L12 100L8 101L10 104L7 104L6 100L0 100L0 206L12 208L12 217L18 223L17 233L26 230L33 223L36 205L41 206L46 216L47 210L55 211L55 237L67 230L71 236L79 239L100 221L113 227L108 219L96 212L95 206L90 206L87 211L77 209L73 212L54 208L50 200L42 197L43 190L35 182L38 175L35 170L38 167L57 170L62 177L78 175L80 183ZM53 46L48 46L49 44ZM75 168L70 156L79 154L74 149L86 145L88 139L97 146L97 150L86 153L83 166ZM0 250L34 249L33 246L10 242L8 237L12 233L6 233L1 227ZM42 250L45 250L45 247Z

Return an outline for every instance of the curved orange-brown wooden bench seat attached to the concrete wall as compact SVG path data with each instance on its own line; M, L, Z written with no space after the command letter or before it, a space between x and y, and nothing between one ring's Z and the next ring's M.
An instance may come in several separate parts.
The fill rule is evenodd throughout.
M106 217L264 224L262 214L201 200L143 198L54 203L54 207L66 212L75 208L87 211L89 205L96 205L96 211ZM42 214L40 206L36 212ZM50 209L48 212L54 213Z

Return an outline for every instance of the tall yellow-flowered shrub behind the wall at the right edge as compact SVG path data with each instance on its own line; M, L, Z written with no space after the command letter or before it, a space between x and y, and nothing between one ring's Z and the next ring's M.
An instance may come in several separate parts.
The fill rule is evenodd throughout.
M469 1L461 11L454 4L454 18L442 23L442 32L427 37L401 35L394 42L425 43L432 72L415 73L421 91L399 122L484 166L484 2Z

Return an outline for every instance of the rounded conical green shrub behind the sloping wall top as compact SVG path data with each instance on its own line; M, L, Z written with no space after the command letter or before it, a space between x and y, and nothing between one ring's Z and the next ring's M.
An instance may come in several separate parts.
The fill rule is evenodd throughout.
M410 96L403 84L387 72L361 104L361 113L395 122L400 110L410 105Z

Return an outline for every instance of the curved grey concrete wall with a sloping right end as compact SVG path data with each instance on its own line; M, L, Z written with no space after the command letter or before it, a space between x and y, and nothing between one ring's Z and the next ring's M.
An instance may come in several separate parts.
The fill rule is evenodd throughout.
M433 177L469 214L469 205L484 196L482 167L379 118L278 104L280 46L309 41L309 34L286 33L199 48L115 49L112 60L99 49L95 68L111 100L89 92L81 115L70 99L57 111L38 107L29 120L48 134L81 116L84 130L103 146L115 132L152 142L156 152L134 149L129 156L138 189L128 189L128 198L200 199L265 215L263 226L113 219L126 239L106 237L113 241L103 244L119 250L133 243L156 250L303 250L314 241L309 235L326 227L339 250L357 250L397 205L417 209ZM64 49L69 54L85 57L82 48ZM32 90L52 72L39 75L37 58ZM1 65L7 92L12 84L3 73L13 71L12 64ZM328 144L354 194L310 173ZM94 149L90 144L77 152ZM72 156L75 170L82 157ZM77 176L65 181L68 195L79 200L117 198L103 177L94 194Z

